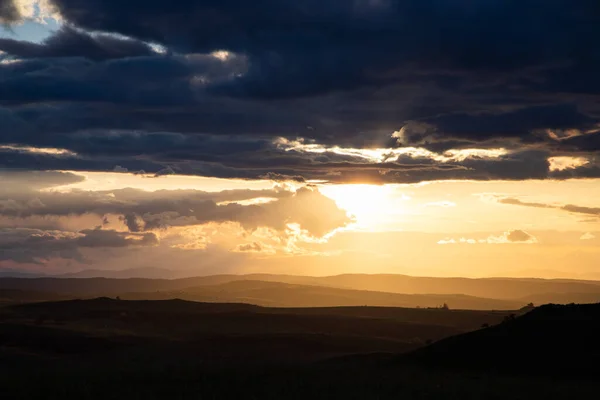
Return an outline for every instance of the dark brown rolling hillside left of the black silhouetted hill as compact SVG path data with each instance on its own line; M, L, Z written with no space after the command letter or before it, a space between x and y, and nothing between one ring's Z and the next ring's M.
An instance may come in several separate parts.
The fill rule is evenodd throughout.
M40 354L102 349L187 359L298 361L405 352L497 323L508 313L373 307L267 308L184 300L98 298L0 308L0 347ZM108 350L107 350L108 351ZM182 354L184 352L185 354Z

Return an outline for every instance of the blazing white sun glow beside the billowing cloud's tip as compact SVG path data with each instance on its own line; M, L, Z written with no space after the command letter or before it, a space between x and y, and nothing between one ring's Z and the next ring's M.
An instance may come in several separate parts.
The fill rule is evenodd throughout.
M401 203L407 199L389 185L324 185L319 190L353 215L362 229L377 228L390 215L402 213Z

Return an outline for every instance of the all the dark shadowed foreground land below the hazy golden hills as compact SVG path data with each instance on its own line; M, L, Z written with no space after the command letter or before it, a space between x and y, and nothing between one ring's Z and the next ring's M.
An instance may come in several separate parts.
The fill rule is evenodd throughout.
M600 305L528 313L109 298L7 305L0 396L589 399L600 390L599 321Z

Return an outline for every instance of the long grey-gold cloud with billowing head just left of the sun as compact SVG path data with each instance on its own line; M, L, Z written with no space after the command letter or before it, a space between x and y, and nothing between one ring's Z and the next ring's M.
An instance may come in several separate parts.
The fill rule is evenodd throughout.
M275 201L245 203L257 198ZM3 193L0 189L0 217L23 219L81 215L96 215L98 218L117 215L130 232L208 222L238 222L249 230L269 227L283 232L288 224L297 223L316 237L351 222L333 200L309 187L296 192L276 188L222 192L120 189Z

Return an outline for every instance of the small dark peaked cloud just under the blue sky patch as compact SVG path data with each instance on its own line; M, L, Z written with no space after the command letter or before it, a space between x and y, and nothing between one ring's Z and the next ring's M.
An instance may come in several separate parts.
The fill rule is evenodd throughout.
M39 44L0 38L0 51L19 58L84 57L98 61L155 54L149 45L138 40L91 35L68 26Z

